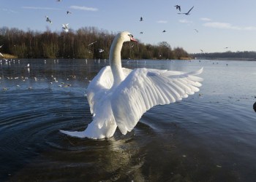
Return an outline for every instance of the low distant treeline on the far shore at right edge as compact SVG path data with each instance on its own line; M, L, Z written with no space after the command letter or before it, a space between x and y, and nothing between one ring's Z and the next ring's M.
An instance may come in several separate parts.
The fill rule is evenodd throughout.
M239 59L256 59L255 51L237 51L237 52L212 52L192 54L194 58L239 58Z

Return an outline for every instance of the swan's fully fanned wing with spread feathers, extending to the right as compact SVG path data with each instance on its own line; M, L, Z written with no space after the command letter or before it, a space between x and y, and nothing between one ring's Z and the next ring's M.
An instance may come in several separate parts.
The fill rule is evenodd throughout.
M174 103L199 91L203 81L195 75L203 71L184 73L180 71L138 68L113 92L111 106L116 124L125 135L138 123L140 117L151 107Z

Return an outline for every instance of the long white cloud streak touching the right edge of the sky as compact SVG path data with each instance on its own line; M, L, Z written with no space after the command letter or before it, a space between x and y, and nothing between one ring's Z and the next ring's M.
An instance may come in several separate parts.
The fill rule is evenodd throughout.
M222 22L209 22L203 24L206 27L210 28L219 28L219 29L230 29L230 30L237 30L237 31L255 31L256 27L248 26L248 27L241 27L235 26L230 23L222 23Z

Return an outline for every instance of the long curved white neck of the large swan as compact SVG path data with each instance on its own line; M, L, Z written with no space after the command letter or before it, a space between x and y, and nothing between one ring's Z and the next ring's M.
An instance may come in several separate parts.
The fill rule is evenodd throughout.
M121 39L113 40L113 43L110 47L110 68L113 74L113 87L116 87L118 84L120 84L124 80L124 72L121 68L121 48L123 46L124 41L121 41Z

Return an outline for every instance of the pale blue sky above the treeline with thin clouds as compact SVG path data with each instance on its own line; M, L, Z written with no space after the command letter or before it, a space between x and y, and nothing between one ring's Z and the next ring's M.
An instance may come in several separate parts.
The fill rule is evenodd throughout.
M181 12L194 9L178 15L176 4ZM110 33L129 31L145 44L167 41L189 53L256 51L255 9L255 0L1 0L0 26L61 31L69 23L73 30L94 26Z

